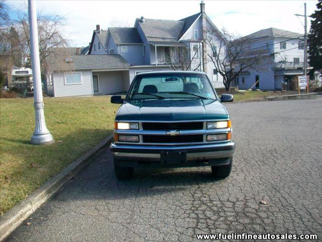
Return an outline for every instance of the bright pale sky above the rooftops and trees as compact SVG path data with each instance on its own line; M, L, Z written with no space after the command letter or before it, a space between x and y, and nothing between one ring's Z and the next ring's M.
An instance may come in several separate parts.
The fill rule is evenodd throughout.
M304 33L304 3L309 16L316 10L317 1L207 1L206 14L219 28L235 35L245 36L270 27ZM10 16L24 11L27 1L7 0ZM63 33L71 46L87 46L93 30L100 24L107 30L109 25L133 27L135 19L179 20L200 12L200 1L36 1L38 11L65 17ZM309 31L309 21L308 28ZM120 27L120 26L117 26Z

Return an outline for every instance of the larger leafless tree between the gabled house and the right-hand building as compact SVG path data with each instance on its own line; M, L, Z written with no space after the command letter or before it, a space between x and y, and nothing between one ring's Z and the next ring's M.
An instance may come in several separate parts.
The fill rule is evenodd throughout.
M208 32L206 42L211 50L207 53L208 62L212 62L223 77L226 91L229 91L231 82L240 73L249 69L263 69L263 56L268 50L251 48L252 41L248 37L238 38L223 29L222 32Z

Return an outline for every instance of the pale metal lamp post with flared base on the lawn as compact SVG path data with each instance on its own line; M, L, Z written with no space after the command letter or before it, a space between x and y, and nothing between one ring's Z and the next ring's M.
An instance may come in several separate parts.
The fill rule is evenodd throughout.
M35 145L48 145L54 143L54 139L47 130L44 114L44 103L42 98L38 26L37 14L34 0L28 0L30 52L32 63L32 76L34 84L34 107L35 107L35 131L31 137L31 143Z

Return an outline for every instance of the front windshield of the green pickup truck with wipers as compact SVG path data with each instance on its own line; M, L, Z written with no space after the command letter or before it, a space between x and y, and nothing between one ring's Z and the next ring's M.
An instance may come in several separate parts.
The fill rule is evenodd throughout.
M128 93L137 99L216 99L206 75L194 73L144 74L135 78Z

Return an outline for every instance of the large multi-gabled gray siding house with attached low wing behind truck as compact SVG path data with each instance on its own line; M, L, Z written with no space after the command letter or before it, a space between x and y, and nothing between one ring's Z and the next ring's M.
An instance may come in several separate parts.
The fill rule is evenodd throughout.
M132 28L107 31L97 25L86 54L48 58L47 92L54 97L126 92L137 73L173 69L203 71L215 88L224 87L207 58L212 53L207 36L215 31L204 3L199 13L181 20L141 17Z

